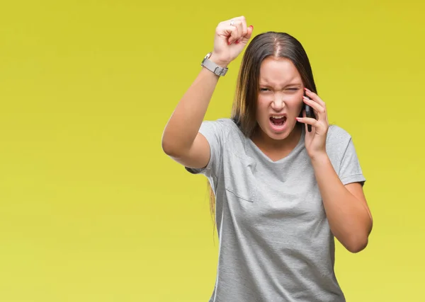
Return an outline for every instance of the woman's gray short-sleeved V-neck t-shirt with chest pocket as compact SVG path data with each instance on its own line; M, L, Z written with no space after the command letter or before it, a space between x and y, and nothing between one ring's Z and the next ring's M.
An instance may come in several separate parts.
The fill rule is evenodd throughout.
M210 302L342 302L334 236L305 150L305 128L288 156L271 161L230 119L200 127L211 157L220 238ZM351 136L330 126L327 154L344 185L365 182ZM341 200L341 202L344 202Z

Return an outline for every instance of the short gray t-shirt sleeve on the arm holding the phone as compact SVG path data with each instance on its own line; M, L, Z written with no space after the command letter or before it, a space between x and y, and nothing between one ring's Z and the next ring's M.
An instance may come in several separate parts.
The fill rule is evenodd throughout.
M363 186L365 183L365 177L361 170L356 148L354 147L353 139L351 139L351 137L348 139L348 144L341 159L339 179L344 185L351 182L360 182Z

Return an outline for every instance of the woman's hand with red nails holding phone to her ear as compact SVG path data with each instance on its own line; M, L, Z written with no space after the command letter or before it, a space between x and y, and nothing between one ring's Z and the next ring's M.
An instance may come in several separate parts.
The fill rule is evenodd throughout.
M305 124L305 148L310 158L316 158L326 154L326 137L329 128L326 104L319 95L307 88L305 93L308 98L302 97L304 103L312 108L316 119L305 117L305 110L303 110L302 117L297 117L297 121ZM312 126L312 132L307 131L307 124Z

